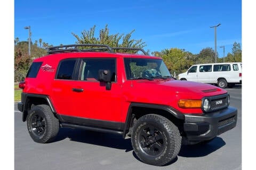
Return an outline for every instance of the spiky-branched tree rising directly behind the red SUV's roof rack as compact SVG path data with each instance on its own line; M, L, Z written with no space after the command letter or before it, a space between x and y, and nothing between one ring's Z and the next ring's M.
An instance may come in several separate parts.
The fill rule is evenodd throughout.
M101 29L99 31L99 37L96 38L94 37L95 27L96 26L94 25L92 28L90 28L90 30L82 31L81 37L72 32L72 35L77 39L76 44L104 44L110 47L131 48L143 48L146 46L145 42L142 42L142 39L131 39L132 33L135 30L132 30L130 33L127 33L126 35L124 35L123 33L116 33L114 35L110 35L108 25L106 25L104 29Z

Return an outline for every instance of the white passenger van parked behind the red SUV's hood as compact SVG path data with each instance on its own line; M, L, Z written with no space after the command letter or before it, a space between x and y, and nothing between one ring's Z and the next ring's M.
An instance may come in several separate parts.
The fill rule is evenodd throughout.
M179 74L178 79L233 87L242 83L242 63L196 64Z

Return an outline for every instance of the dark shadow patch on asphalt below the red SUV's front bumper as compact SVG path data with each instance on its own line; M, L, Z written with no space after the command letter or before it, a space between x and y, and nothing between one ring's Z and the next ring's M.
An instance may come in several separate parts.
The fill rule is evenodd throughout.
M225 146L222 138L216 137L209 143L197 143L196 145L181 146L178 156L181 157L203 157Z

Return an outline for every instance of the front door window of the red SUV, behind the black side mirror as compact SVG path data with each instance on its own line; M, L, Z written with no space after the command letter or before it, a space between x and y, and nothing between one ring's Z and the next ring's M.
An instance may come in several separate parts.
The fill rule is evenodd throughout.
M116 82L116 60L113 59L84 59L82 61L81 80L99 81L99 70L110 70L111 81Z

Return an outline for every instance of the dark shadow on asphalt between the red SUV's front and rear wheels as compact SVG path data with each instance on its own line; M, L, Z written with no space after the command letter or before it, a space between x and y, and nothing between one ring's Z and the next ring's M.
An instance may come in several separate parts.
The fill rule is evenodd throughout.
M59 133L53 142L58 142L66 138L76 142L123 149L125 152L133 150L130 138L124 139L122 135L80 129L60 128Z

